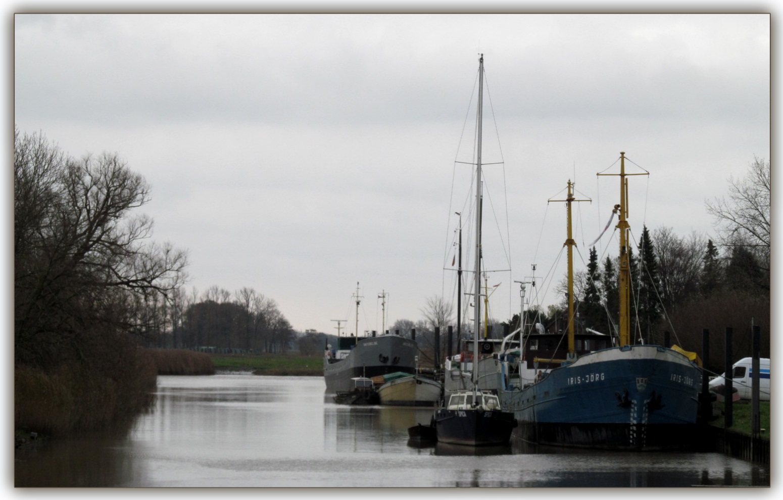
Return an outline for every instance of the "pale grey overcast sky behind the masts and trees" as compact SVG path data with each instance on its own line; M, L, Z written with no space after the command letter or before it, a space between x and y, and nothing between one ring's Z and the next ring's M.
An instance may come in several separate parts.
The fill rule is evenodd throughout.
M630 179L637 239L714 236L705 200L770 157L767 14L17 14L13 40L20 130L118 153L152 185L153 238L189 251L189 291L252 287L299 330L352 330L357 282L360 331L381 329L382 291L387 326L452 300L479 53L498 319L560 253L547 200L569 179L593 200L586 260L620 151L650 172ZM617 254L611 229L597 247Z

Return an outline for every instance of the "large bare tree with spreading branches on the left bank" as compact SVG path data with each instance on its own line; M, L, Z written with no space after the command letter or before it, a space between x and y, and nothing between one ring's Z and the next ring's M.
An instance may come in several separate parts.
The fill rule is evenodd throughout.
M186 279L187 255L150 241L152 220L133 213L149 200L149 185L117 155L74 160L15 130L18 362L84 362L91 349L104 355L111 336L161 325L150 311Z

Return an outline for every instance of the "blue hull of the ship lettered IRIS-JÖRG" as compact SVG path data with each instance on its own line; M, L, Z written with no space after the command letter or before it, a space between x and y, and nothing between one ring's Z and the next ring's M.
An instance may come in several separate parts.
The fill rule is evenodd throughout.
M504 367L505 369L505 367ZM695 434L701 372L677 351L613 347L552 369L529 387L505 385L503 409L537 444L590 448L687 448Z

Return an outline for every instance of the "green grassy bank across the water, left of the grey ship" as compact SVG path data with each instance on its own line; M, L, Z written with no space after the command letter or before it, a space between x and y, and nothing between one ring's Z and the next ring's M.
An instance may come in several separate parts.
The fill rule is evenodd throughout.
M251 371L255 375L323 376L321 354L211 354L215 369Z

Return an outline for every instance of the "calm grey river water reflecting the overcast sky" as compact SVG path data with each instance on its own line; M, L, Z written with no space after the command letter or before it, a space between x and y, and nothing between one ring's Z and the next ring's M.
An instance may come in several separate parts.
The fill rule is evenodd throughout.
M720 454L407 442L431 409L335 405L320 377L158 377L157 405L124 436L18 455L17 487L768 486Z

